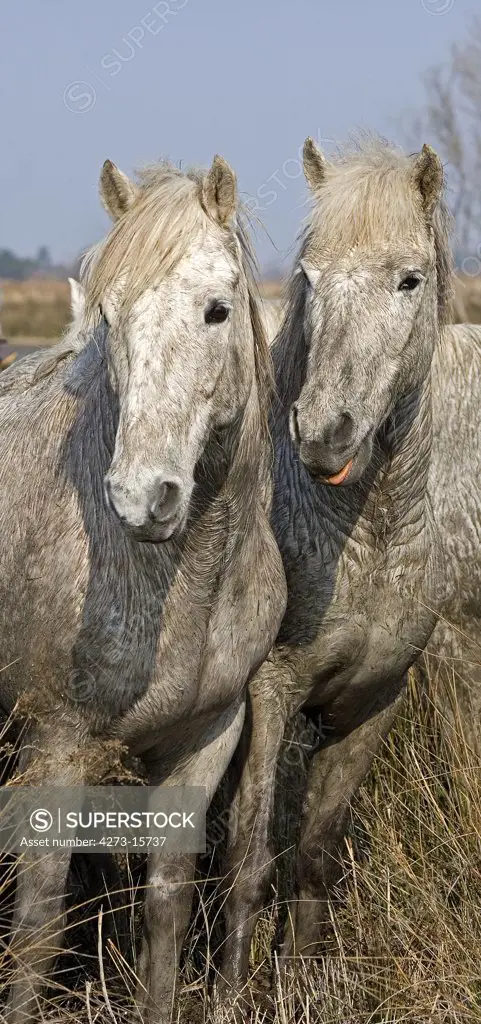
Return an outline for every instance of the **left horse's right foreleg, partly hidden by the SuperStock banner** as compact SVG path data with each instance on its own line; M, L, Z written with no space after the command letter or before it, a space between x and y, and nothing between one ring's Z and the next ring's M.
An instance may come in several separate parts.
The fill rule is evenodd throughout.
M244 695L201 733L192 750L166 777L163 751L149 752L150 779L168 785L202 785L207 802L237 745L245 715ZM157 776L157 778L156 778ZM192 905L195 855L149 851L143 938L137 968L137 1002L144 1024L168 1024L172 1017L182 944Z

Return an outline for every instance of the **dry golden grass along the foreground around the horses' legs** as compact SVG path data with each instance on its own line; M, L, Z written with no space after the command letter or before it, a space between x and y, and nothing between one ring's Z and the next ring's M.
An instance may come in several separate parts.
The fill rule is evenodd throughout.
M443 728L429 694L411 679L406 708L352 812L344 886L333 907L333 938L321 965L281 975L271 954L281 906L259 923L253 973L271 979L255 994L253 1020L275 1024L475 1024L481 1022L481 765L457 734ZM281 861L279 861L281 863ZM200 889L183 969L179 1019L214 1020L206 994L219 941L218 886ZM141 891L130 893L130 948L139 932ZM99 925L105 930L108 901ZM134 906L136 904L136 906ZM205 921L210 922L206 942ZM90 939L90 968L78 975L72 955L65 986L48 1011L72 1022L132 1018L133 955L122 953L118 911L111 937ZM74 944L70 933L69 945ZM103 971L99 972L101 958ZM215 959L215 958L214 958ZM0 953L5 994L8 954ZM104 974L106 981L102 981ZM108 1009L108 1005L111 1009ZM249 1015L246 1014L246 1022Z

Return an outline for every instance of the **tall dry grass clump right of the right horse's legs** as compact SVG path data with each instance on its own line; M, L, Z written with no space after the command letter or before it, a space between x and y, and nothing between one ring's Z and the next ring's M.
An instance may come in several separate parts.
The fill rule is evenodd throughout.
M444 725L412 681L353 812L336 921L353 1021L481 1020L481 764Z

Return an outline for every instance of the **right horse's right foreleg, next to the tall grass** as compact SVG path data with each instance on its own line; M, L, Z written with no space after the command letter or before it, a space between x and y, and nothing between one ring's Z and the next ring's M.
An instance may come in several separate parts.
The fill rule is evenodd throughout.
M289 908L282 957L315 956L330 923L329 899L342 873L342 846L350 801L387 736L404 692L313 757L297 856L297 899Z

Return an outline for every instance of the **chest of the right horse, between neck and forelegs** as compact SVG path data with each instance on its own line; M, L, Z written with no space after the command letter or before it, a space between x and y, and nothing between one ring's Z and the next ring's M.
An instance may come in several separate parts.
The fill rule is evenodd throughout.
M325 538L295 557L285 550L285 567L279 642L301 701L353 703L353 687L366 694L399 679L426 645L435 625L428 544L416 558L406 550L403 562L353 539L335 552Z

